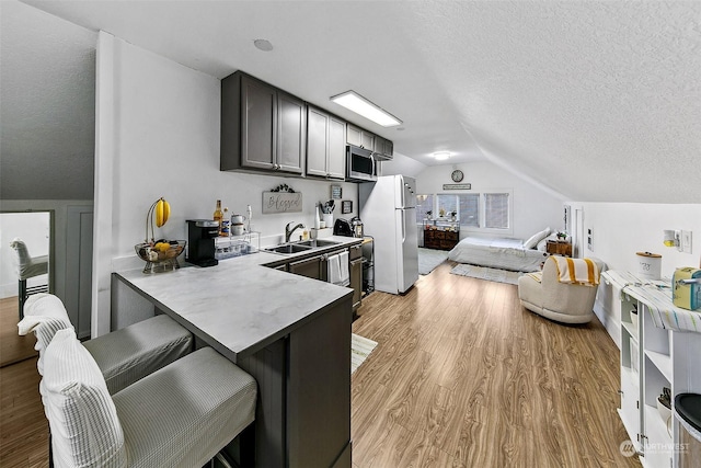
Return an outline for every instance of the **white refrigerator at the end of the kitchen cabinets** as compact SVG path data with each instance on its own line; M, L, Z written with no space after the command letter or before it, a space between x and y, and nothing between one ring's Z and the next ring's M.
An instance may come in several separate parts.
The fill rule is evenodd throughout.
M418 279L416 180L382 175L358 186L360 219L375 239L375 289L405 293Z

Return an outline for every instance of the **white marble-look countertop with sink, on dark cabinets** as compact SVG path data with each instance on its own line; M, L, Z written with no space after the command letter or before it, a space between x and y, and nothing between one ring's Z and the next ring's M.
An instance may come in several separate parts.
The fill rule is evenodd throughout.
M333 246L334 249L361 241L344 237L327 239L341 242ZM304 255L261 251L204 269L187 266L156 274L130 270L114 275L237 362L353 294L347 287L263 266L295 256Z

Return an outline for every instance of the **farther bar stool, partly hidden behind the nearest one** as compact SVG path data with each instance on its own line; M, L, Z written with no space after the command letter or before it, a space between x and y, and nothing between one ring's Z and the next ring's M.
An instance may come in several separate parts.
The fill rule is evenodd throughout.
M64 303L53 294L36 294L18 323L21 335L34 332L44 375L44 351L59 330L70 329ZM185 356L193 350L192 334L168 316L156 316L83 343L100 367L111 395Z

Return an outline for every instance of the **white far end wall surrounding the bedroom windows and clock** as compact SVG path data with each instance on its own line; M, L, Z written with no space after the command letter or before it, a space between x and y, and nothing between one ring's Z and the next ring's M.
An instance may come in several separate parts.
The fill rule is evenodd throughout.
M492 162L427 167L416 176L418 193L460 193L443 190L443 184L453 183L450 173L455 169L460 169L464 173L462 183L472 184L470 193L481 193L486 190L509 190L513 192L514 230L509 237L528 239L545 227L564 228L562 199ZM464 233L461 232L461 236Z

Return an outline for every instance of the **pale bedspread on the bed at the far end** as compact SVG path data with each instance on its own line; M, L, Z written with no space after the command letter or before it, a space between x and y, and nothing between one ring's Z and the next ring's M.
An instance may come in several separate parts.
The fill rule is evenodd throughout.
M540 271L547 258L545 252L524 249L520 239L487 237L466 237L448 254L453 262L516 272Z

